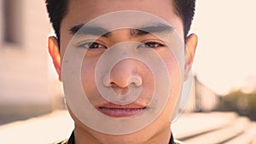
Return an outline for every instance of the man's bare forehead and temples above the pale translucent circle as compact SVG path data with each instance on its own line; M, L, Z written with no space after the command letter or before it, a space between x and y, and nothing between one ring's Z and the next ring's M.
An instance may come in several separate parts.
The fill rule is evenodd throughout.
M172 0L70 0L68 13L61 22L61 45L67 45L68 39L72 38L68 30L73 26L86 24L103 14L123 10L154 14L166 20L183 37L183 23L175 13Z

